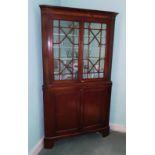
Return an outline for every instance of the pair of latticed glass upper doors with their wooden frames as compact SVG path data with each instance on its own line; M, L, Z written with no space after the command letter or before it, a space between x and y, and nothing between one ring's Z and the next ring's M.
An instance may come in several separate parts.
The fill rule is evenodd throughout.
M51 19L48 25L51 83L106 79L109 28L107 22Z

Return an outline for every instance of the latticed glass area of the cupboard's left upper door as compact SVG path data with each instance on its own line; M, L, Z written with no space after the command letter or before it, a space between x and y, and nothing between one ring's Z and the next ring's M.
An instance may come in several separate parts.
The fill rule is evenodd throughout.
M79 23L53 21L54 79L76 80L78 77Z

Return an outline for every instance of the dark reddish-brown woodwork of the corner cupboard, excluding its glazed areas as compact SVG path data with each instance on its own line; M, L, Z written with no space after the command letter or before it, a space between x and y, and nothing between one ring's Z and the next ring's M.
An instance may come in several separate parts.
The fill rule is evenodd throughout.
M89 132L109 134L111 66L114 23L117 13L98 10L40 5L42 17L42 57L44 95L44 147L58 139ZM54 80L53 20L78 21L78 79ZM84 22L107 24L104 77L83 79ZM100 51L101 52L101 51ZM73 75L72 75L73 77Z

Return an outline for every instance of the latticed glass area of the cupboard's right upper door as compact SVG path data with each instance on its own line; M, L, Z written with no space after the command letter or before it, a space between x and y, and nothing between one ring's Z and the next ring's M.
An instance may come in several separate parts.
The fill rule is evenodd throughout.
M84 24L83 78L103 78L106 24Z

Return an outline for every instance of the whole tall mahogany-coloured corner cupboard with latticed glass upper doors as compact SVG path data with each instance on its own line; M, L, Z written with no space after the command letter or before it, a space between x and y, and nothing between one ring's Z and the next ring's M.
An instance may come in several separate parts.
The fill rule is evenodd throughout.
M40 5L44 147L88 132L109 134L117 13Z

